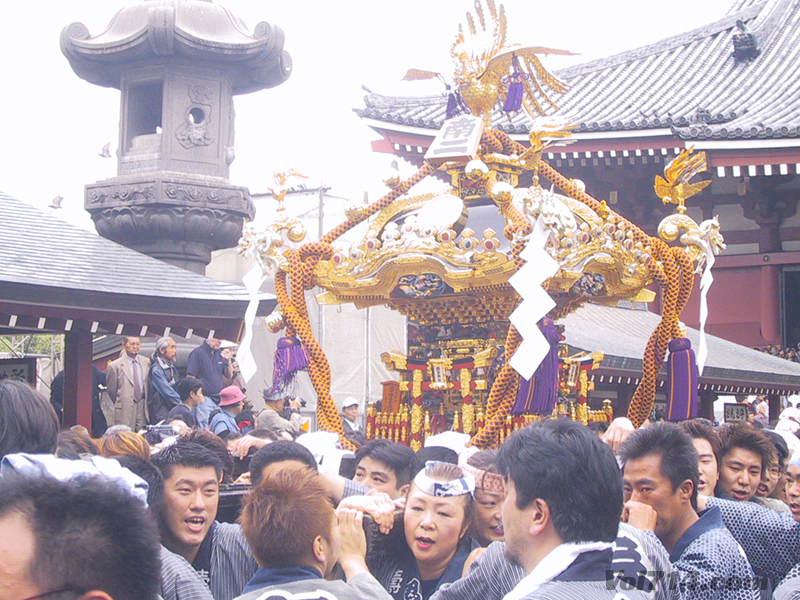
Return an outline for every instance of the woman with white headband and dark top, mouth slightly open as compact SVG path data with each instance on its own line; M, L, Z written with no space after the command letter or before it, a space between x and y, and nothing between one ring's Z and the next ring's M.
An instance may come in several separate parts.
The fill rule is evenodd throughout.
M367 565L395 600L427 600L461 577L469 553L475 478L430 461L411 483L403 512L405 544L372 552ZM393 536L394 537L394 536Z

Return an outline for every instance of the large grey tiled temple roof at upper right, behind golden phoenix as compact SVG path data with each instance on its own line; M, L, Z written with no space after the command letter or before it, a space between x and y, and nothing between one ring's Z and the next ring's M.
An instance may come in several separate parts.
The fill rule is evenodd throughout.
M737 26L741 22L743 29ZM735 45L740 50L734 56ZM743 53L741 53L743 52ZM800 137L800 10L795 0L735 0L719 20L654 44L563 69L554 98L575 131L657 130L686 140ZM369 94L364 119L439 129L444 95ZM492 127L526 134L528 117L495 108Z

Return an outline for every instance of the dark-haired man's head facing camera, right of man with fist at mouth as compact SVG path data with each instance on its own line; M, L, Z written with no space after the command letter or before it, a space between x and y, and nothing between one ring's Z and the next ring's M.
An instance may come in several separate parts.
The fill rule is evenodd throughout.
M756 495L761 474L772 462L774 447L769 438L750 423L719 428L721 444L716 495L747 502Z

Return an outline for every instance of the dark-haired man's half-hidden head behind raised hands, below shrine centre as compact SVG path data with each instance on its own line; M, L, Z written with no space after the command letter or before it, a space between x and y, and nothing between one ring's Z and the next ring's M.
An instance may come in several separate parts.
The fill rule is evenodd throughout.
M356 451L353 481L396 500L406 495L418 470L417 456L408 446L372 440Z

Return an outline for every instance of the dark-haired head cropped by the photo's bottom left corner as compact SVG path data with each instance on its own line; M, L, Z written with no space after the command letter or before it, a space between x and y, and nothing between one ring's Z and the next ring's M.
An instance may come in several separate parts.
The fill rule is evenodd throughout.
M155 600L159 548L142 502L106 477L0 478L2 600Z

